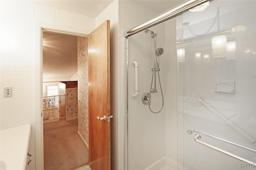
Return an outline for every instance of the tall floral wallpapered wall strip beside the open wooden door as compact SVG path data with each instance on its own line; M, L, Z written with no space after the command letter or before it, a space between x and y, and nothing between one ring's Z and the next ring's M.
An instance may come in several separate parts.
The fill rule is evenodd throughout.
M88 38L77 38L78 54L78 132L89 145L88 118Z

